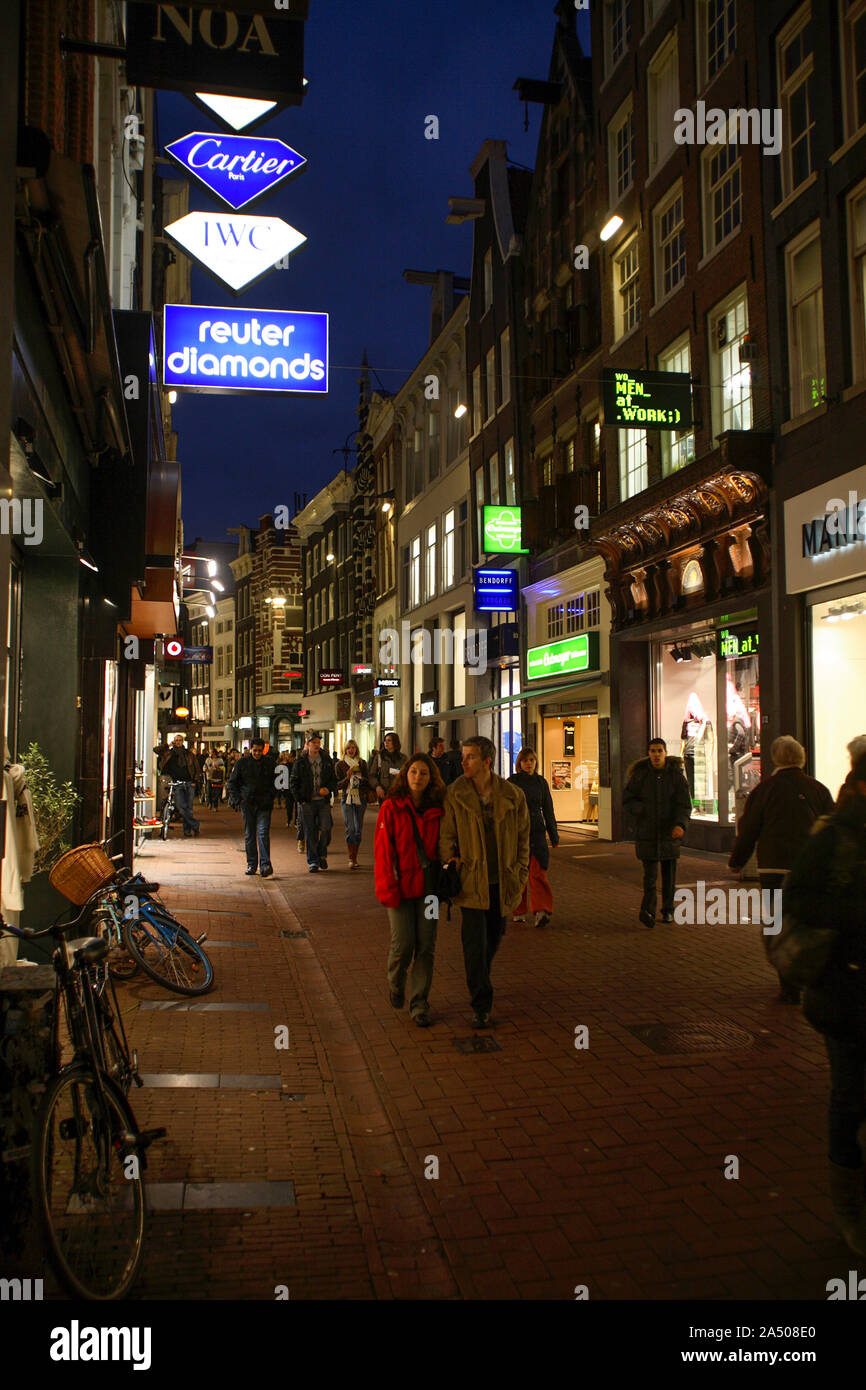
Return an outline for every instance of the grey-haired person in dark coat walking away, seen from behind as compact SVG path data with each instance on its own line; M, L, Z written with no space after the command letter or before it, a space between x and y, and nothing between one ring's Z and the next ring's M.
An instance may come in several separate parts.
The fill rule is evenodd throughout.
M815 821L834 809L828 788L803 771L806 749L795 738L783 734L773 739L770 759L773 773L749 792L728 859L728 867L740 870L752 858L752 851L758 849L762 894L783 890L788 870L796 863ZM776 898L769 902L774 903ZM784 890L781 902L784 915ZM778 920L781 922L781 916ZM771 937L763 935L765 947L769 948L771 941ZM785 984L781 976L778 1002L799 1004L799 988Z

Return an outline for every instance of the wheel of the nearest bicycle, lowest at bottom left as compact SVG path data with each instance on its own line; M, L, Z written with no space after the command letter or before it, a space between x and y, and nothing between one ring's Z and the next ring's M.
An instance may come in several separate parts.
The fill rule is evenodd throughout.
M125 1098L89 1063L49 1083L32 1150L35 1205L51 1268L72 1297L124 1298L135 1283L145 1250L136 1137Z

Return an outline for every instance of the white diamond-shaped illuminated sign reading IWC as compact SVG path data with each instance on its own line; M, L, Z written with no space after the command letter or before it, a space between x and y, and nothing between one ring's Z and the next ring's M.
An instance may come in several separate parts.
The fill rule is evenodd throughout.
M188 213L165 232L235 291L252 285L307 239L281 217L253 217L250 213Z

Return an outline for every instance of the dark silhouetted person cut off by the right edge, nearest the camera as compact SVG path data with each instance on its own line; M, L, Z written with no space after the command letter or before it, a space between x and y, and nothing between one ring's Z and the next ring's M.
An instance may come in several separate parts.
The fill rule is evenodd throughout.
M852 773L851 796L816 824L784 892L806 942L833 933L824 937L827 963L806 986L803 1015L824 1034L830 1059L833 1212L848 1247L866 1255L866 755Z

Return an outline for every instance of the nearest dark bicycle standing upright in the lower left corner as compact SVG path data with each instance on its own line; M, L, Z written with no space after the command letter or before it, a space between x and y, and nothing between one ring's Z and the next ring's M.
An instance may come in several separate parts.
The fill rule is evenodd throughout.
M147 1148L165 1130L140 1130L126 1098L132 1081L140 1086L142 1080L106 969L107 938L67 940L88 909L89 903L71 922L51 923L42 931L11 927L0 916L0 931L24 940L50 935L57 942L51 963L63 992L72 1061L60 1065L56 1033L53 1076L31 1144L36 1215L49 1261L67 1293L113 1301L129 1293L140 1268L146 1225L142 1169Z

